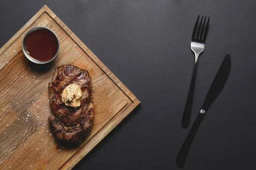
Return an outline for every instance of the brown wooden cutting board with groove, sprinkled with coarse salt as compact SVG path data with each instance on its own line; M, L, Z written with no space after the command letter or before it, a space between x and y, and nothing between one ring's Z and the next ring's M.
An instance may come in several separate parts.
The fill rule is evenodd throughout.
M23 54L23 35L35 26L52 29L60 51L48 65L36 65ZM95 105L93 128L77 147L58 145L48 124L48 83L58 65L87 69ZM44 6L0 49L0 170L71 169L118 125L140 101Z

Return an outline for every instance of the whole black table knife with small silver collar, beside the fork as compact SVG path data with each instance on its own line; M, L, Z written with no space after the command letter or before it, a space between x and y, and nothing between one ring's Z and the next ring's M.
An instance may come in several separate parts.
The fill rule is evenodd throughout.
M196 117L195 122L189 131L189 134L186 136L186 139L182 144L179 153L177 154L177 157L176 157L177 167L183 168L186 161L186 156L192 144L192 140L195 137L195 133L197 132L198 127L200 126L202 120L204 119L204 116L208 111L209 107L212 105L212 103L217 98L217 96L221 93L221 90L223 89L225 83L227 82L227 77L230 73L230 68L231 68L230 54L226 54L212 82L212 85L209 88L207 96L204 99L203 106L201 107L201 110L198 113L198 116Z

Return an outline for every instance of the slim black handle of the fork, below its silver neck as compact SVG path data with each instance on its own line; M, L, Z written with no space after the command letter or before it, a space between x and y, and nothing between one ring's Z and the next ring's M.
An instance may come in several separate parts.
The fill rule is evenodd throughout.
M194 88L195 88L195 74L196 74L197 60L198 60L198 55L195 55L195 65L193 69L192 79L190 82L189 94L187 96L186 105L185 105L182 120L181 120L181 126L183 128L187 128L189 126Z

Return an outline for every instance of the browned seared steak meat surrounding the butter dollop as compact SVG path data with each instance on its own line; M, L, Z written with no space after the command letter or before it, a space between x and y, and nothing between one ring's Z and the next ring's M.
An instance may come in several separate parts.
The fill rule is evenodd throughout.
M81 105L78 108L66 106L61 101L64 88L75 83L82 90ZM55 116L49 116L49 123L57 139L65 142L79 142L92 127L94 108L90 102L92 85L87 70L74 65L62 65L55 69L49 83L49 100Z

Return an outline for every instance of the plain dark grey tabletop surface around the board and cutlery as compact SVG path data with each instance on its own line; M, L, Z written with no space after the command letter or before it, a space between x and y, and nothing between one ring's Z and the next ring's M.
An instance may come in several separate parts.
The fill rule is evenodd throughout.
M142 102L74 170L178 169L175 157L227 52L230 76L183 169L256 168L254 0L1 0L0 46L45 4ZM198 14L211 18L191 121L183 129Z

